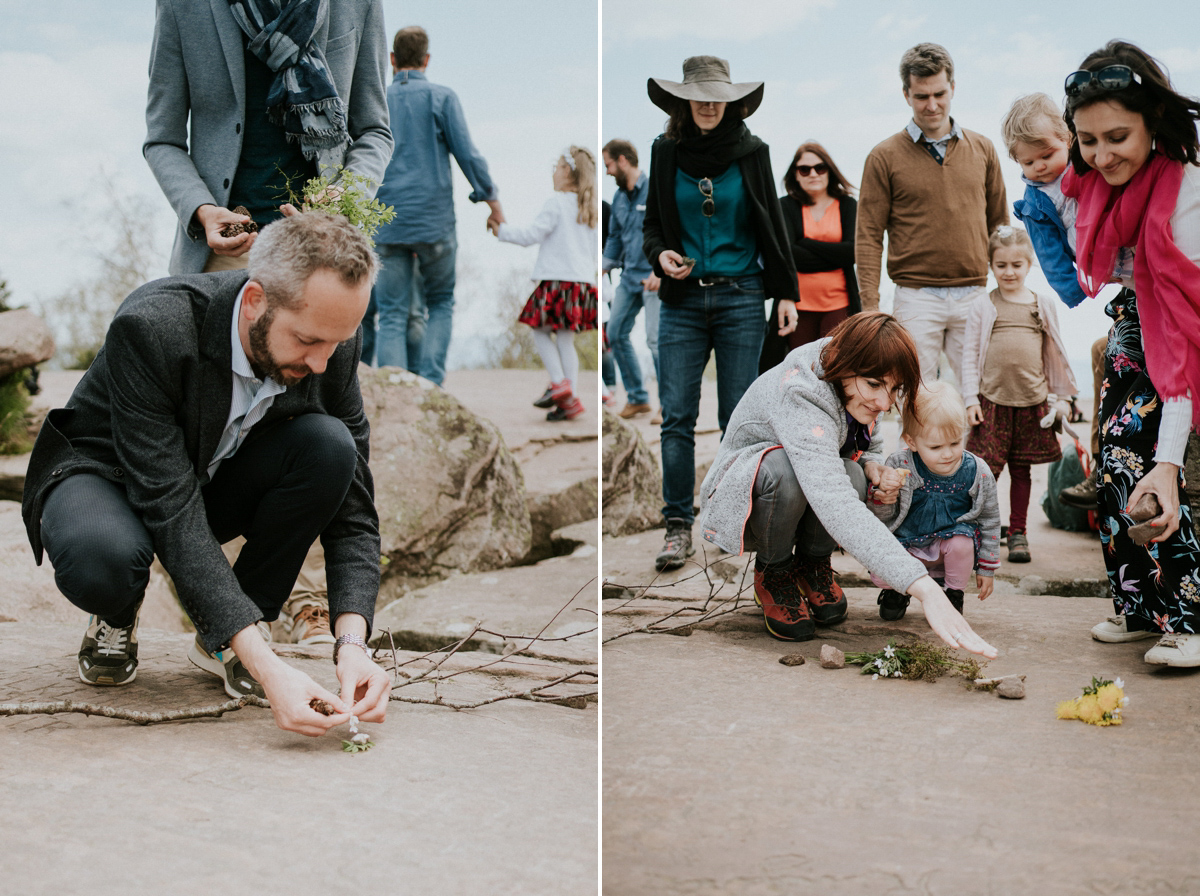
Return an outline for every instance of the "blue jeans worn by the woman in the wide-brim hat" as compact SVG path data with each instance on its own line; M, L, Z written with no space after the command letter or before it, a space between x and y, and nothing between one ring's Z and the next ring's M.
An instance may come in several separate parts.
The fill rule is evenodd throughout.
M708 356L716 354L716 420L721 433L758 377L767 329L762 277L701 287L688 281L683 300L662 303L659 319L659 398L662 401L662 516L695 519L696 417Z

